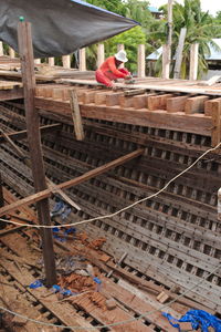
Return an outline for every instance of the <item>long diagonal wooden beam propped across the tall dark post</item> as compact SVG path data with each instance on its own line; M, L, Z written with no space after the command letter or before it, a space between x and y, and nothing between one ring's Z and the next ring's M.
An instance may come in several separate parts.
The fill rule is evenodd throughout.
M84 183L84 181L86 181L86 180L88 180L88 179L91 179L91 178L93 178L95 176L98 176L101 174L104 174L104 173L108 172L112 168L115 168L115 167L117 167L119 165L123 165L123 164L125 164L125 163L127 163L127 162L129 162L129 160L131 160L131 159L134 159L134 158L136 158L138 156L141 156L143 154L144 154L144 149L143 148L136 149L133 153L129 153L129 154L127 154L125 156L122 156L122 157L119 157L119 158L117 158L117 159L115 159L113 162L109 162L109 163L107 163L107 164L105 164L103 166L99 166L99 167L97 167L95 169L92 169L92 170L90 170L90 172L87 172L87 173L85 173L85 174L83 174L83 175L81 175L81 176L78 176L78 177L76 177L74 179L71 179L71 180L67 180L67 181L65 181L63 184L60 184L60 185L57 185L57 187L60 189L66 189L66 188L73 187L73 186L77 186L77 185L80 185L80 184L82 184L82 183ZM50 197L50 195L51 195L51 190L50 189L44 189L44 190L42 190L40 193L36 193L34 195L31 195L29 197L22 198L22 199L20 199L18 201L14 201L14 203L12 203L12 204L10 204L10 205L1 208L0 209L0 216L7 214L9 211L12 211L14 209L18 209L21 206L31 205L33 203L42 200L42 199L44 199L46 197Z

